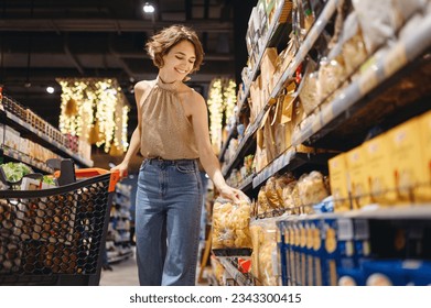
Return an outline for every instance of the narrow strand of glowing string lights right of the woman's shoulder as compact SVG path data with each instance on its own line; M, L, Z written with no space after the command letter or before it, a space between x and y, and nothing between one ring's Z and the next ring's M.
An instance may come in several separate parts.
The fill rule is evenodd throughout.
M208 91L209 136L214 150L222 147L223 118L230 119L236 105L236 84L231 79L213 79Z

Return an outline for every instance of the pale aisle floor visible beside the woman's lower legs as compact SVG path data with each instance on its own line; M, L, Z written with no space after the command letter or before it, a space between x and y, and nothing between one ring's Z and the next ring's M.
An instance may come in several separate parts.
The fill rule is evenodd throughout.
M101 270L99 284L100 286L139 286L138 267L137 261L134 258L134 248L133 256L119 263L110 264L110 266L112 267L112 271ZM204 286L207 285L207 283L204 282L198 285Z

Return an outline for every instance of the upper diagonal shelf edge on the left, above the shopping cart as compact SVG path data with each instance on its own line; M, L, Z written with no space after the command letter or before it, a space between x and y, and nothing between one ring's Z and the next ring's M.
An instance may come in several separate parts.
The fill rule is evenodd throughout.
M33 135L37 136L39 140L42 140L45 145L50 146L51 150L54 150L54 152L60 152L61 155L66 155L72 157L74 161L76 161L79 165L84 167L93 167L93 161L86 160L84 157L80 157L73 153L69 148L65 147L64 145L60 144L58 142L54 141L53 139L45 135L43 132L36 130L25 121L19 119L17 116L12 114L9 111L0 111L0 113L3 113L6 116L6 119L8 120L7 124L11 124L14 128L18 128L19 130L25 130L31 132Z

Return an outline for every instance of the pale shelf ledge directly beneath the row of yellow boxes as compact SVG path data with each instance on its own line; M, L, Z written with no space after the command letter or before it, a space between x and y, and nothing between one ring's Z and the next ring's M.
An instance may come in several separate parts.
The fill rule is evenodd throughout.
M344 216L367 219L430 219L431 204L392 205L391 207L370 205L360 210L345 212Z

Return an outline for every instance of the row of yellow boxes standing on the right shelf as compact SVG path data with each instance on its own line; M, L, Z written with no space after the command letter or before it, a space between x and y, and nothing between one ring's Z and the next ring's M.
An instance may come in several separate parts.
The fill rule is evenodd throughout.
M430 144L427 112L330 160L335 211L430 201Z

